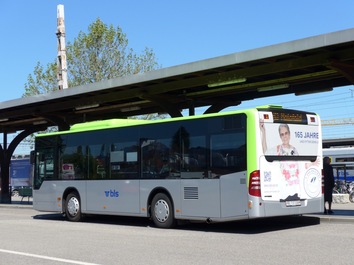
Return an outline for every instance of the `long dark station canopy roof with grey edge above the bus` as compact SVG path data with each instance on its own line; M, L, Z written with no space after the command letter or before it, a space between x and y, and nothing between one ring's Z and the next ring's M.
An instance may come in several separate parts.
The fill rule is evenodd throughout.
M147 113L179 117L204 106L218 112L352 85L353 66L354 28L1 102L0 132Z

